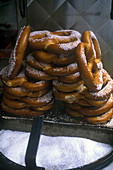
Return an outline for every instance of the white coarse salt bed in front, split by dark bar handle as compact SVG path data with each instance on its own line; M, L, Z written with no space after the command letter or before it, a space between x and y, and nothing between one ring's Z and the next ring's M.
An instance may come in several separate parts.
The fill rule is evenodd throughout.
M25 165L24 158L30 133L0 131L0 151L12 161ZM36 163L46 170L63 170L82 166L102 157L112 146L78 137L41 135Z

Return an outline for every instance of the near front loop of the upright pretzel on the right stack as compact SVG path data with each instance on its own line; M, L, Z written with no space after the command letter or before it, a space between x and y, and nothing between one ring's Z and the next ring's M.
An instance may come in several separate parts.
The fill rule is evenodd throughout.
M95 53L87 43L80 43L77 46L77 63L82 79L89 91L98 91L102 88L102 69L93 70Z

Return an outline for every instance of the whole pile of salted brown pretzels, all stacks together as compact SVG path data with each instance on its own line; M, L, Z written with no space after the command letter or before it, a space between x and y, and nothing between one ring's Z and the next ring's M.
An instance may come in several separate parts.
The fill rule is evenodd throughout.
M27 52L26 52L27 51ZM68 114L104 123L113 114L113 80L103 69L101 50L92 31L20 30L9 65L0 72L2 109L38 116L64 102Z

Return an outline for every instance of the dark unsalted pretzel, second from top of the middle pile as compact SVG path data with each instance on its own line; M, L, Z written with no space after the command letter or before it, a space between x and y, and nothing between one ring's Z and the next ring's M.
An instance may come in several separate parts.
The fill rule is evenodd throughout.
M66 55L66 54L54 54L45 51L35 51L34 57L42 61L44 63L52 63L57 66L63 66L67 64L72 64L76 61L75 54L73 55Z

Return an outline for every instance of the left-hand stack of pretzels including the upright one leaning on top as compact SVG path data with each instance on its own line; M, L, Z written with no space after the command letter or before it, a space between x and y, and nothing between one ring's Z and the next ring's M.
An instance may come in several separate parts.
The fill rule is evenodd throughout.
M39 116L54 105L51 82L35 80L25 74L22 62L28 45L30 27L20 30L9 65L1 71L3 81L2 109L13 115Z

